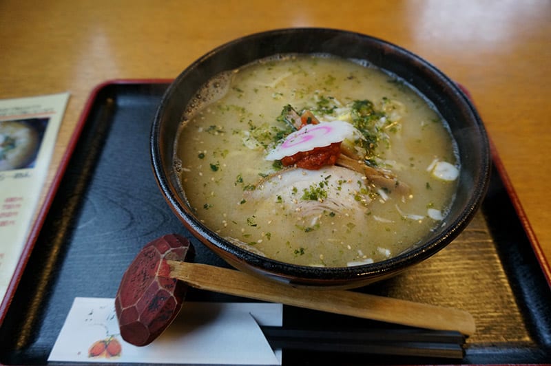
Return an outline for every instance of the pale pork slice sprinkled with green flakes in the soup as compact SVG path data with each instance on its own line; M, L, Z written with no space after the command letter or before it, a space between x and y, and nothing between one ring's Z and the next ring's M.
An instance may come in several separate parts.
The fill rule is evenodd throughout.
M315 171L290 168L269 175L245 195L258 210L297 215L315 224L323 214L360 217L368 212L371 189L366 182L365 175L341 166Z

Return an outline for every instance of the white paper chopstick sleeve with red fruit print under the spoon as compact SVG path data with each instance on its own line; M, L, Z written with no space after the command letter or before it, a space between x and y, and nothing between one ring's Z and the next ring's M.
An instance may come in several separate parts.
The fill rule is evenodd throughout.
M184 303L167 330L145 347L125 343L114 299L76 298L49 361L280 365L259 325L282 325L275 303Z

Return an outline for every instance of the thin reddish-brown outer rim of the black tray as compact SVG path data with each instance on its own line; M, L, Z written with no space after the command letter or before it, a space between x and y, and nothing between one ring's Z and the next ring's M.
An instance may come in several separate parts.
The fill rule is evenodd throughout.
M99 94L101 94L101 92L103 92L105 88L117 86L117 85L166 84L168 86L173 80L174 78L114 78L114 79L105 80L102 83L99 83L98 85L92 88L89 96L85 101L85 105L79 116L79 120L76 122L72 136L68 141L67 147L65 148L65 151L61 157L58 169L53 177L50 189L45 194L43 204L39 208L39 211L37 211L34 223L32 224L29 230L28 237L25 240L25 244L23 245L23 248L21 250L21 255L17 262L17 267L15 268L14 273L12 274L12 278L10 279L10 283L8 284L6 294L0 303L0 325L1 323L3 323L3 320L5 319L6 314L10 308L10 304L12 303L12 299L19 285L19 281L21 280L21 277L25 272L28 259L32 254L34 245L36 244L39 234L41 233L41 230L43 228L45 218L48 216L50 207L52 206L52 202L54 201L57 191L59 190L59 186L61 185L61 182L65 175L65 171L67 171L67 166L76 148L76 144L79 142L79 138L81 137L81 133L85 127L87 118L90 116L92 107L94 103L96 103L96 100ZM468 89L466 89L463 85L459 85L459 86L465 92L468 98L472 100L472 97L468 92ZM483 118L483 121L484 121L484 118ZM543 255L541 244L539 243L534 233L534 230L532 229L532 226L528 220L526 212L524 211L521 201L519 200L519 196L517 195L516 191L514 191L514 186L512 185L512 182L506 172L505 166L499 156L497 148L495 147L495 144L493 143L489 132L486 131L486 133L488 133L488 141L490 142L490 153L492 158L491 160L492 164L495 166L497 174L499 175L501 182L503 183L503 187L505 188L506 193L511 200L514 211L521 222L521 225L523 227L524 232L526 233L526 236L528 237L528 241L530 242L530 246L532 247L534 256L537 259L540 269L543 272L543 275L545 277L545 280L551 289L550 263L548 263L547 259L545 258L545 255Z

